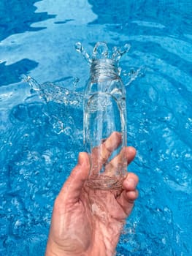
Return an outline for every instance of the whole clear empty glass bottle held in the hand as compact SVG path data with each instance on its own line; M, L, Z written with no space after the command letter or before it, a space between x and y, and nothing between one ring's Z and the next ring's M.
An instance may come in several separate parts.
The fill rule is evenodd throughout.
M126 90L115 62L98 59L84 97L84 143L93 189L118 189L126 176Z

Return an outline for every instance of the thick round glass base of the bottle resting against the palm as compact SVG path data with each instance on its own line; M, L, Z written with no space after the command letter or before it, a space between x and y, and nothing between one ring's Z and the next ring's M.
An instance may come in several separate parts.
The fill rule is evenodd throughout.
M107 176L102 176L101 178L89 178L86 182L88 187L91 189L120 189L123 184L123 178L112 178Z

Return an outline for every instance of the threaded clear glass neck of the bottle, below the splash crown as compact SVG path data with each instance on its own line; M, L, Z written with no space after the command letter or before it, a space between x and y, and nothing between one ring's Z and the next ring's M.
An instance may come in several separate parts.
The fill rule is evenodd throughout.
M119 78L117 64L112 59L96 59L91 63L91 81L115 80Z

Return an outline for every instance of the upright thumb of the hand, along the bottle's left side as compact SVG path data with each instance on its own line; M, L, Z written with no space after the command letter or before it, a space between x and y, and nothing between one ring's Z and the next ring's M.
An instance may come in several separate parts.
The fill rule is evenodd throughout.
M72 170L69 178L67 178L58 196L63 197L63 200L66 200L68 203L77 203L82 187L88 178L89 169L90 162L88 154L81 152L77 165Z

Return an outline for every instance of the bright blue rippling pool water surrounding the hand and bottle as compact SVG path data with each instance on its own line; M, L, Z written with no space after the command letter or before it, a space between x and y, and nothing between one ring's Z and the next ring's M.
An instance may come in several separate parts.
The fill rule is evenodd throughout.
M91 52L98 41L131 44L124 83L145 67L126 86L128 170L140 182L118 255L192 255L191 18L190 0L0 1L0 255L45 252L55 196L83 149L88 64L74 44Z

